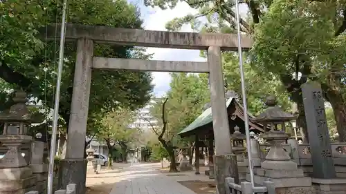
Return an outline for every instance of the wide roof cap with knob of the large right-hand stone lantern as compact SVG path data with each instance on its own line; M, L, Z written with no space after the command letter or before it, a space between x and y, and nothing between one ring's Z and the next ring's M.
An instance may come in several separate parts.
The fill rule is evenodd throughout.
M289 122L291 120L297 119L298 115L292 115L291 113L287 113L280 106L277 106L276 97L270 95L266 97L266 110L264 113L261 113L254 119L253 122L260 123L271 123L271 122Z

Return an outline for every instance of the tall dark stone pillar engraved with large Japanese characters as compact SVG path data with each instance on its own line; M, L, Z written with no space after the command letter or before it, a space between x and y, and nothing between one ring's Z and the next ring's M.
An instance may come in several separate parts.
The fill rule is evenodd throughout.
M302 96L313 166L312 183L316 192L346 193L346 179L336 177L325 116L325 100L320 84L315 81L307 82L302 86Z

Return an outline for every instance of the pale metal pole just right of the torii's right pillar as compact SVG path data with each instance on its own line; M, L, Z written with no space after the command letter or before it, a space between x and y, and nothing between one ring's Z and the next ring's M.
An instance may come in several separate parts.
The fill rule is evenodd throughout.
M245 89L245 78L244 78L244 68L243 68L243 55L242 55L242 37L240 35L240 23L239 23L239 4L238 0L235 0L235 11L237 19L237 32L238 32L238 55L239 55L239 70L240 79L242 81L242 99L244 107L244 122L245 122L245 133L246 133L246 149L248 152L248 170L250 173L251 184L255 186L253 182L253 164L251 157L251 140L250 140L250 130L248 128L248 105L246 103L246 89Z

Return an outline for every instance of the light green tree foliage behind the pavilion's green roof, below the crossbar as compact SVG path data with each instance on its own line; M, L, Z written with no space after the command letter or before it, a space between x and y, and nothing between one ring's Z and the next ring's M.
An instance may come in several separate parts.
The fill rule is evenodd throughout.
M167 92L165 119L167 130L163 137L179 146L179 137L176 135L183 128L191 124L201 113L204 104L209 101L208 81L206 77L199 77L187 73L171 73L172 81ZM152 107L151 113L162 124L162 101ZM156 131L161 133L161 129Z

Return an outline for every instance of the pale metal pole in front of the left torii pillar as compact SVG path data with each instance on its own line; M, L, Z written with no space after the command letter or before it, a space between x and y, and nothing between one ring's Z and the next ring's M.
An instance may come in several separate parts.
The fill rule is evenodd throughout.
M54 156L55 156L55 143L57 139L57 120L59 119L59 103L60 103L60 83L62 80L62 66L64 62L64 43L65 43L65 27L66 27L66 6L67 0L64 0L62 8L62 27L60 31L60 50L59 50L59 67L57 70L57 88L55 90L55 102L53 113L53 129L51 139L51 151L49 155L49 168L48 168L48 185L47 193L53 194L53 171L54 171Z

